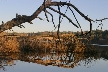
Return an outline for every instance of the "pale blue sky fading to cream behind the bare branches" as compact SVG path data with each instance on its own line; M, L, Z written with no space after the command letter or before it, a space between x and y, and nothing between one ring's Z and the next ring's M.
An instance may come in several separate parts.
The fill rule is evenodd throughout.
M42 5L44 0L0 0L0 24L2 21L7 22L16 17L16 13L20 15L32 15L39 6ZM60 0L52 0L60 1ZM65 2L66 0L61 0ZM69 0L67 0L69 1ZM93 20L108 18L108 0L70 0L73 5L75 5L82 13L88 15ZM53 7L57 9L57 7ZM54 15L54 22L57 25L59 23L59 15L49 9L47 9ZM61 8L61 11L64 13L66 11L66 6ZM73 9L79 23L81 24L82 30L89 30L89 23L82 18L74 9ZM76 23L72 12L68 9L66 15ZM23 23L25 28L13 27L14 32L40 32L40 31L57 31L54 30L52 22L47 22L44 12L41 12L39 17L43 18L44 21L39 20L38 18L34 19L33 24ZM49 20L51 21L51 17ZM103 21L103 29L108 29L108 20ZM77 24L77 23L76 23ZM99 23L93 23L93 30L98 27ZM100 28L99 28L100 29ZM6 30L10 32L9 30ZM60 31L80 31L80 28L76 28L66 18L63 18Z

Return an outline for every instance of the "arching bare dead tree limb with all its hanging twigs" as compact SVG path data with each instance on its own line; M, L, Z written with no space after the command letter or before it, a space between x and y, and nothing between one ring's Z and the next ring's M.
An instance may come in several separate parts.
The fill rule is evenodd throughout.
M58 6L58 10L52 8L51 6ZM61 7L67 6L67 9L69 9L69 10L72 12L72 14L73 14L73 16L74 16L74 18L75 18L75 20L76 20L76 22L77 22L78 25L75 24L75 23L71 20L71 18L69 18L66 14L64 14L64 13L62 13L62 12L60 11L60 6L61 6ZM71 4L70 2L67 3L67 2L61 2L61 1L60 1L60 2L50 2L50 3L48 4L48 3L45 3L45 0L44 0L43 4L42 4L31 16L27 16L27 15L18 15L18 14L16 14L16 18L13 18L12 20L10 20L10 21L8 21L8 22L6 22L6 23L4 23L4 22L2 21L2 24L0 25L0 33L3 32L3 31L5 31L5 30L12 29L12 27L14 27L14 26L18 26L18 27L22 28L22 27L24 27L24 26L21 25L21 24L22 24L22 23L25 23L25 22L28 22L28 23L30 23L30 24L33 24L33 23L32 23L32 20L34 20L35 18L39 18L40 20L43 20L41 17L38 17L38 15L39 15L42 11L45 12L45 17L46 17L46 19L47 19L48 22L49 22L49 19L48 19L48 15L47 15L47 14L49 14L49 15L52 17L52 23L53 23L53 25L54 25L54 27L55 27L55 29L56 29L57 26L55 26L53 14L50 13L49 11L47 11L47 10L46 10L47 8L49 8L50 10L52 10L52 11L54 11L54 12L56 12L56 13L59 14L59 24L57 25L57 26L58 26L58 33L59 33L60 24L61 24L61 22L62 22L61 16L65 17L65 18L66 18L72 25L74 25L75 27L81 29L81 26L80 26L80 24L79 24L79 22L78 22L78 20L77 20L77 18L76 18L76 16L75 16L75 14L74 14L74 12L73 12L73 10L72 10L71 8L73 8L78 14L80 14L81 17L83 17L85 20L87 20L87 21L90 23L90 31L89 31L88 33L86 33L86 34L91 33L91 31L92 31L92 22L96 22L96 21L101 21L101 22L102 22L103 20L108 19L108 18L104 18L104 19L100 19L100 20L97 20L97 19L96 19L96 20L94 21L94 20L88 18L86 15L84 15L77 7L75 7L75 6L74 6L73 4ZM67 10L66 10L66 11L67 11ZM65 13L66 13L66 12L65 12ZM62 19L63 19L63 18L62 18ZM82 29L81 29L81 30L82 30ZM84 35L84 34L82 34L82 35Z

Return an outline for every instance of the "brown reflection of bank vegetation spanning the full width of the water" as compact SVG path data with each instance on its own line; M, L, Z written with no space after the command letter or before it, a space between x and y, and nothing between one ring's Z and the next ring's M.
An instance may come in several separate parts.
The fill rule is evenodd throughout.
M95 46L96 47L96 46ZM74 53L74 52L44 52L44 53L0 53L0 69L5 70L6 66L14 66L16 60L32 62L44 66L57 66L63 68L74 68L76 66L90 65L98 59L108 60L108 48L96 47L98 52Z

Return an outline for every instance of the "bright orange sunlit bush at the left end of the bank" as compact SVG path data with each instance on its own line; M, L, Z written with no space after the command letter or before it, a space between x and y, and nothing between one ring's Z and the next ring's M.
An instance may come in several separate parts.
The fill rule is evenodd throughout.
M0 52L19 52L19 42L15 37L0 37Z

